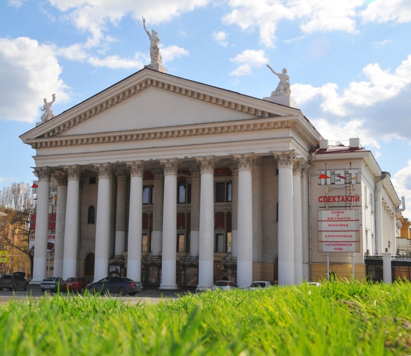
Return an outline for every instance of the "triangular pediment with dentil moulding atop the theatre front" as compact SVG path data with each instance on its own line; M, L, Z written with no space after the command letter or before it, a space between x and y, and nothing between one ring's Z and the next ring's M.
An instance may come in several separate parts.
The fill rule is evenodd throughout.
M274 109L274 110L273 110ZM294 115L298 110L143 69L23 134L23 140Z

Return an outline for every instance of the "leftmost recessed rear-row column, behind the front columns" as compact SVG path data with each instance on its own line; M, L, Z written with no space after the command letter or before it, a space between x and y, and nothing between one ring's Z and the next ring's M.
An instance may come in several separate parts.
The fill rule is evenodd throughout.
M121 256L125 251L125 211L126 211L126 182L124 170L115 172L117 176L117 205L116 205L116 240L114 254Z

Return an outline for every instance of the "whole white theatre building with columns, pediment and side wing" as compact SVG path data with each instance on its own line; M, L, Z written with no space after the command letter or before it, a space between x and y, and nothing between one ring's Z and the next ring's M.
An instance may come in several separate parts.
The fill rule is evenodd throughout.
M223 278L318 280L327 266L363 279L364 254L388 241L395 251L389 174L358 139L330 148L282 99L144 68L24 133L38 177L33 283L46 276L50 187L63 279L118 267L145 285L202 290ZM332 211L352 223L324 227Z

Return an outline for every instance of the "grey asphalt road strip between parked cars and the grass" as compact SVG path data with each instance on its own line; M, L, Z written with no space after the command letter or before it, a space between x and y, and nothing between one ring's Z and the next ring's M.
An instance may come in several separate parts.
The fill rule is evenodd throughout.
M137 293L134 296L120 296L110 295L110 296L101 296L101 298L116 298L124 301L126 304L135 305L137 303L159 303L165 299L177 300L181 295L188 293L187 290L159 290L159 289L146 289L142 290L140 293ZM40 298L44 295L54 296L57 293L50 291L42 292L40 286L29 286L28 290L18 290L16 292L9 291L4 289L0 291L0 303L4 304L10 301L11 299L16 300L27 300L27 298ZM63 295L68 295L67 293L61 293ZM78 293L73 293L70 295L81 295Z

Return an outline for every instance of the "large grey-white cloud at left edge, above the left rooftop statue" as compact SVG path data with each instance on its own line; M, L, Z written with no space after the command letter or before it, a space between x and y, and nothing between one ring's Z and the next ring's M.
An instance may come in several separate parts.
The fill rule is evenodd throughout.
M50 101L55 93L59 102L68 100L61 71L53 46L27 37L0 38L0 118L39 121L45 96Z

